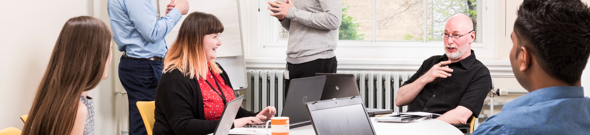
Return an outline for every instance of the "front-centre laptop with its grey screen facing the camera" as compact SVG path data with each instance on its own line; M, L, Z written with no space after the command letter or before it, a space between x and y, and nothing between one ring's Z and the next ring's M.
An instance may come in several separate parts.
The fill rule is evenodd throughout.
M323 134L376 134L360 96L308 102L312 127Z

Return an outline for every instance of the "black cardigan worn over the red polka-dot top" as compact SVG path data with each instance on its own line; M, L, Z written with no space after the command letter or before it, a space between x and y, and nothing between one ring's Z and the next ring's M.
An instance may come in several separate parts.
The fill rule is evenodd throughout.
M223 71L219 75L232 88L230 78L221 65L217 65ZM155 100L153 134L211 134L219 124L219 120L204 120L203 97L197 78L190 79L180 70L162 74ZM240 107L235 118L257 114Z

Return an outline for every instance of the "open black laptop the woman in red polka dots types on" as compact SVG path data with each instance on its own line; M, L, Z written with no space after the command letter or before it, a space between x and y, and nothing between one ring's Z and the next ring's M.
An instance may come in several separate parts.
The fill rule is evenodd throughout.
M289 93L287 93L283 112L281 113L282 117L289 117L289 129L312 124L309 115L306 113L307 108L305 103L320 101L320 98L322 98L324 83L326 83L326 76L297 78L291 80L289 84ZM266 123L266 121L263 121L263 123ZM244 127L264 129L266 124L247 124Z

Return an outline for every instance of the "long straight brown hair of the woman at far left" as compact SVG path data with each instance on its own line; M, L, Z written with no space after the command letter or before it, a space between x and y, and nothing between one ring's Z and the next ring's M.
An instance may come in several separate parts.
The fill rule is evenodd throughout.
M51 53L22 134L70 134L83 91L100 83L112 34L100 19L68 19Z

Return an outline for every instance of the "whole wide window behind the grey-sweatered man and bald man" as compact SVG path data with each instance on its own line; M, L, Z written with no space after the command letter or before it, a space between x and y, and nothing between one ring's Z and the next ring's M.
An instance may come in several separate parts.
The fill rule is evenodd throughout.
M447 19L463 13L477 29L477 0L372 0L342 1L340 40L442 41ZM366 15L375 8L375 17ZM375 21L373 21L375 18ZM277 22L278 23L278 22ZM424 25L426 24L426 25ZM289 39L289 31L277 24L278 40ZM373 36L374 35L374 36ZM424 38L424 35L426 38ZM476 42L477 42L476 38Z

